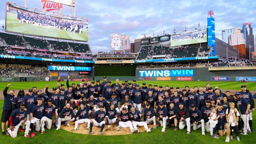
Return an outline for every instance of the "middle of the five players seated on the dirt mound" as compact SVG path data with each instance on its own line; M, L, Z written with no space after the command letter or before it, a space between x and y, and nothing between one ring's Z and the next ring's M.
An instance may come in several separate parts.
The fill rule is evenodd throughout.
M118 120L118 114L116 112L116 109L114 109L114 104L110 104L110 108L107 108L106 110L106 123L108 125L108 129L111 130L111 126L110 124L114 124L116 123L118 129L117 130L120 130L119 128L119 120Z

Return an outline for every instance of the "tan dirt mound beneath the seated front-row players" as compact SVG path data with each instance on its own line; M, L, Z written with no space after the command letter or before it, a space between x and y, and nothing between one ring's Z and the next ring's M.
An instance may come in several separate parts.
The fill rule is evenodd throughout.
M110 125L111 126L111 130L108 130L108 125L105 125L104 127L104 135L106 136L111 136L111 135L124 135L124 134L131 134L131 130L130 128L121 128L119 131L117 131L117 126L116 124L113 124L113 125ZM158 125L157 125L158 126ZM72 128L75 127L75 123L74 122L71 122L70 123L70 126L66 126L66 124L64 125L61 125L61 128L63 128L64 130L66 131L69 131L69 132L74 132L74 133L80 133L80 134L89 134L89 130L86 129L87 127L87 124L84 123L84 124L79 124L78 125L78 130L76 131L72 131ZM154 125L153 124L149 124L148 125L148 128L153 128ZM144 127L138 127L138 130L140 132L146 132L145 128ZM153 129L154 130L154 129ZM153 131L152 130L152 131ZM92 127L92 132L93 132L93 135L99 135L98 132L100 132L100 127L95 127L93 126Z

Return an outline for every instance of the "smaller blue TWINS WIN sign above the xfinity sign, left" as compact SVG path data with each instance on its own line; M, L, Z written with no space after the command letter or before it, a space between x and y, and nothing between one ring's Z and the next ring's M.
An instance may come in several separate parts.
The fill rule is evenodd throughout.
M84 66L48 66L49 70L64 70L64 71L90 71L90 67Z

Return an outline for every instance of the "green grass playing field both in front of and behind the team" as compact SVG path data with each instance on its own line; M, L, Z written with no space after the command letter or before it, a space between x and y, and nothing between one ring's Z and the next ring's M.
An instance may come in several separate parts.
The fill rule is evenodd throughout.
M122 82L122 81L121 81ZM192 86L205 86L208 82L196 82L196 81L138 81L138 84L142 84L142 82L146 82L146 84L158 84L159 85L168 85L168 86L180 86L180 88L184 88L186 85ZM66 82L61 82L66 85ZM70 82L71 84L72 82ZM78 82L75 82L78 83ZM230 90L240 90L240 86L242 83L240 82L209 82L213 87L219 86L221 89L230 89ZM3 90L7 85L7 82L0 83L0 89ZM56 86L56 82L12 82L12 89L28 89L32 88L32 86L37 86L38 88L44 88L46 84L50 84L50 87ZM249 90L256 90L255 83L245 82L247 88ZM2 114L2 106L4 101L0 100L0 114ZM256 129L256 112L253 113L253 127ZM73 126L73 125L72 125ZM25 138L23 132L18 132L17 138L10 138L10 136L2 136L0 135L0 144L16 144L20 142L37 143L37 144L45 144L47 142L50 143L62 143L62 144L70 144L70 142L74 143L122 143L122 144L141 144L141 143L177 143L177 144L191 144L191 143L199 143L199 144L224 144L226 137L220 137L220 139L211 138L209 132L206 133L206 136L201 135L201 128L194 131L191 130L191 134L186 134L186 130L178 130L173 131L173 127L167 126L166 132L161 132L161 127L158 127L156 130L152 130L151 133L147 134L146 132L141 132L140 134L128 134L128 135L116 135L116 136L94 136L88 134L76 134L73 132L68 132L66 130L58 130L55 128L45 131L45 134L40 134L40 132L35 132L36 137ZM246 144L253 143L255 132L249 133L246 136L240 136L241 141L238 142L236 139L231 140L232 144Z

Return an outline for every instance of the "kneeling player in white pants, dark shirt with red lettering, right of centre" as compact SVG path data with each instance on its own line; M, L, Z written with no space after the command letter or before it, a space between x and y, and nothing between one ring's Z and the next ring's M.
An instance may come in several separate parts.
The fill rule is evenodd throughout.
M185 126L187 126L187 134L190 134L190 118L189 112L184 108L184 105L180 102L179 109L176 112L176 118L179 123L179 128L182 130Z

